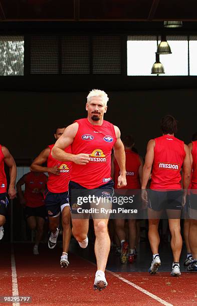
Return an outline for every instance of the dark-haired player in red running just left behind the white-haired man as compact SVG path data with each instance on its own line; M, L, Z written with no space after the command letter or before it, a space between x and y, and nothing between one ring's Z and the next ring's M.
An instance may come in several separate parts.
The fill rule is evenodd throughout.
M66 127L59 126L55 131L55 138L59 139ZM31 165L32 171L48 172L49 178L47 188L44 191L45 205L49 217L49 228L51 235L48 240L49 248L54 248L57 243L59 233L60 213L62 211L62 226L63 226L63 252L60 258L61 267L67 267L68 248L71 238L71 213L68 202L68 182L70 180L70 172L72 162L61 161L54 159L51 155L51 150L54 144L45 148L38 157L35 158ZM71 148L67 148L71 152ZM47 161L47 166L42 166Z

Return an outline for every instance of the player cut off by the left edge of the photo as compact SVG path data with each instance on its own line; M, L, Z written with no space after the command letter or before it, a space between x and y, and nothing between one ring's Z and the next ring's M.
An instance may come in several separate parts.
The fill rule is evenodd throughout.
M15 181L17 176L17 166L15 160L8 148L0 144L0 240L4 236L3 225L6 222L6 215L8 210L8 198L7 198L7 179L4 170L4 162L10 168L10 185L8 189L8 195L10 199L16 197Z

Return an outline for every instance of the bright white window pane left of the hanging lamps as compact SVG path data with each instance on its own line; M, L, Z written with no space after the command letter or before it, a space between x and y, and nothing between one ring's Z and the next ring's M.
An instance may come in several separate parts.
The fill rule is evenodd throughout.
M127 75L155 75L151 68L155 62L155 40L127 41Z

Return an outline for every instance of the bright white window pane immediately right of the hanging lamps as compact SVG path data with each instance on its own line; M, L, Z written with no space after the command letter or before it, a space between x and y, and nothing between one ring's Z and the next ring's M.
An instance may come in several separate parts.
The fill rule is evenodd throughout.
M172 53L159 55L165 70L161 75L188 75L187 40L167 40L167 42Z

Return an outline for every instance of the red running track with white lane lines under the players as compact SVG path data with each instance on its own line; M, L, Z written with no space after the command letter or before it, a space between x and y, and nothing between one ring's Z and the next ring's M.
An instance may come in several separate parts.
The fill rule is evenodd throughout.
M182 273L171 277L167 272L150 275L148 272L106 272L108 286L93 290L95 265L70 253L70 265L61 268L59 249L41 248L40 255L32 254L32 245L15 244L15 261L19 295L32 296L31 305L161 305L131 284L166 301L166 305L197 305L197 274ZM1 245L0 295L12 295L11 249ZM129 284L129 282L131 284ZM12 303L4 303L11 305ZM21 305L25 304L23 302ZM165 304L165 303L163 303ZM0 303L3 305L3 303Z

